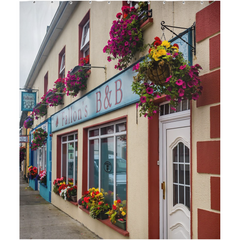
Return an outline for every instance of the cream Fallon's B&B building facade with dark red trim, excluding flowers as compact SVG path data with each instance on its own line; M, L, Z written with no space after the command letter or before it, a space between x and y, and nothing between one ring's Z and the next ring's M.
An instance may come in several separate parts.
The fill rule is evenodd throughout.
M87 55L91 70L86 89L75 97L62 94L63 104L48 106L34 120L30 135L44 124L48 128L40 150L47 170L43 196L101 238L220 238L220 2L149 2L152 16L141 25L144 43L158 36L184 50L187 44L174 33L195 26L187 39L195 53L186 51L203 68L199 99L172 111L165 96L156 98L159 113L152 119L139 116L139 97L131 91L132 68L148 49L122 71L103 52L125 5L60 2L48 28L25 84L38 89L37 102ZM162 21L174 33L161 29ZM30 150L33 165L40 164L39 154ZM99 187L112 192L112 202L125 201L126 230L55 194L53 181L61 177L77 186L78 199Z

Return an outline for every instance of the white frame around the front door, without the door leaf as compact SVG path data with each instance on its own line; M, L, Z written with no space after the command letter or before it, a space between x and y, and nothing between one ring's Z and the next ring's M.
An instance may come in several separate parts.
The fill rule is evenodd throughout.
M163 104L166 104L163 103ZM159 116L159 237L167 238L167 200L163 200L163 191L161 183L167 182L167 166L166 166L166 130L178 127L191 127L190 126L190 110L171 113ZM165 139L165 141L164 141ZM190 138L191 141L191 138ZM190 143L191 146L191 143ZM190 149L191 152L191 149ZM165 169L165 170L164 170ZM167 196L167 192L166 192ZM191 200L190 200L191 202ZM191 215L190 215L191 224Z

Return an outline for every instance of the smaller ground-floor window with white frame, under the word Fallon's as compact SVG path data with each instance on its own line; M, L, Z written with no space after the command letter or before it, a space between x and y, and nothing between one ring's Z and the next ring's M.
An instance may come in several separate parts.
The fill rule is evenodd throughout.
M78 134L72 133L61 138L61 177L66 184L77 185Z

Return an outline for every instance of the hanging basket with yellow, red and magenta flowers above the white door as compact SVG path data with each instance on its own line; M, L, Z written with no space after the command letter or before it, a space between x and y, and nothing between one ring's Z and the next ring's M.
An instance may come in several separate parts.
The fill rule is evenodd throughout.
M132 91L140 96L137 108L140 107L140 116L149 119L158 110L153 103L156 97L166 95L166 100L176 111L178 103L184 99L197 100L203 89L199 78L201 66L189 66L177 44L162 42L159 37L154 39L149 44L149 54L133 67L137 75Z

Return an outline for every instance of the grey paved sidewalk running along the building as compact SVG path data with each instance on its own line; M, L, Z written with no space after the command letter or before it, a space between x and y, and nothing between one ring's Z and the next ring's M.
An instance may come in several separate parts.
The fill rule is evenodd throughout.
M20 239L100 239L43 199L20 174Z

